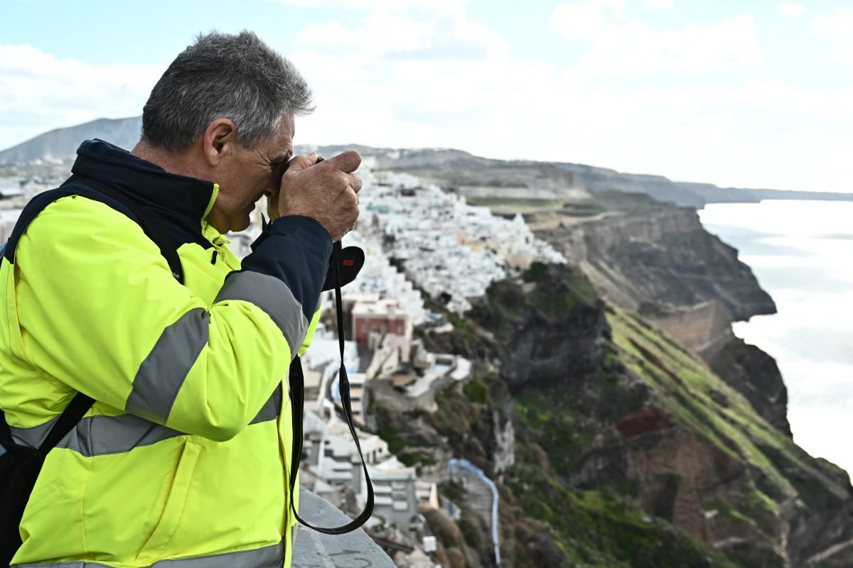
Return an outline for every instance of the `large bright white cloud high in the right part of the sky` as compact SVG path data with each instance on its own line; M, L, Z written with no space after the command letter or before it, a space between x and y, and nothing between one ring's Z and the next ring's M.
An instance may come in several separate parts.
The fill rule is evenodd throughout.
M699 72L753 67L763 60L755 22L740 17L675 30L658 30L638 21L608 26L593 38L593 49L583 56L581 65L621 73Z

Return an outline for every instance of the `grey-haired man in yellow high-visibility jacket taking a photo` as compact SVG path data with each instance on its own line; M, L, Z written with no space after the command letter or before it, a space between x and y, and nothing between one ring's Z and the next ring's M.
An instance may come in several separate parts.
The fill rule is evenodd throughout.
M356 152L281 175L310 110L304 79L254 34L201 36L154 86L133 152L86 141L73 166L168 234L184 284L108 198L57 199L3 261L0 408L16 441L37 447L77 392L96 401L49 453L13 565L290 565L282 382L361 187ZM273 221L241 263L223 233L264 193Z

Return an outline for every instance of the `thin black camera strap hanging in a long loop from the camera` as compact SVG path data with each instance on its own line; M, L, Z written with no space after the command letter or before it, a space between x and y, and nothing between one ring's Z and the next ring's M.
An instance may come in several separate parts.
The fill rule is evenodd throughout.
M364 462L364 456L362 454L362 445L358 441L358 435L356 433L356 427L352 421L352 404L350 400L350 380L346 376L346 368L344 366L344 308L343 303L340 299L340 241L334 244L334 249L332 251L332 274L334 278L334 299L335 299L335 312L338 315L338 343L340 347L340 371L338 376L338 389L340 391L340 404L344 410L344 417L346 419L346 425L350 427L350 433L352 434L352 440L356 443L356 448L358 450L358 456L362 459L362 468L364 471L364 479L367 480L368 484L368 501L364 505L364 510L361 514L357 516L356 519L353 519L351 522L347 523L343 526L335 526L325 528L322 526L314 526L306 523L305 520L299 517L299 513L296 511L295 506L293 505L293 488L296 485L296 475L299 473L299 462L302 461L302 443L303 443L303 433L302 433L302 419L303 414L305 412L305 376L302 373L302 363L299 361L299 357L293 359L293 363L290 365L290 397L291 397L291 411L293 416L293 446L292 451L290 452L290 509L293 511L293 514L296 516L296 519L299 520L300 523L307 526L310 529L314 529L315 531L322 532L327 535L342 535L346 532L355 531L358 527L363 525L370 519L370 515L373 514L374 508L374 491L373 484L370 482L370 475L368 473L367 463Z

